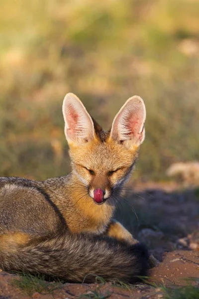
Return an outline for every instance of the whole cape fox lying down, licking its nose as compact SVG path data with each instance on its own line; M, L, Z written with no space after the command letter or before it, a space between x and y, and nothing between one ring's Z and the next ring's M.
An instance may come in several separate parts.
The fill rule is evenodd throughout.
M0 269L133 283L147 274L148 252L112 216L144 141L144 102L129 98L108 132L72 93L63 115L72 172L45 181L0 178Z

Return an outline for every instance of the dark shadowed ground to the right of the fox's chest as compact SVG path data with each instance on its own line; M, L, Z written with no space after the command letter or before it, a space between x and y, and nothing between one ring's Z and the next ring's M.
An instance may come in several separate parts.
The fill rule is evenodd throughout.
M165 252L199 247L198 189L124 189L115 217L159 260Z

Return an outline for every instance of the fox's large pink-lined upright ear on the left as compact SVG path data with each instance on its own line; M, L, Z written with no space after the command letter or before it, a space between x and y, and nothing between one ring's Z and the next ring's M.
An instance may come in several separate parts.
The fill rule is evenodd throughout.
M91 116L80 99L68 93L63 102L65 135L70 144L80 145L95 138L94 124Z

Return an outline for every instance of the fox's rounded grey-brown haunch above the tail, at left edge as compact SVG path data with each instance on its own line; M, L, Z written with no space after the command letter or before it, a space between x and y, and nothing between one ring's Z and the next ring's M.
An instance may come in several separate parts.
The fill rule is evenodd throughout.
M23 232L42 237L57 233L65 225L58 207L39 182L0 178L0 234Z

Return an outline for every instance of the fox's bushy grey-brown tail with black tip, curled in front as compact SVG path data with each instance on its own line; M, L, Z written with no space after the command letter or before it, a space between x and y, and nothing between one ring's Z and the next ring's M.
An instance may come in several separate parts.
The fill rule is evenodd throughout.
M106 237L56 236L15 250L0 251L0 269L40 273L68 282L106 281L134 283L146 276L148 252L141 244L127 246ZM89 275L91 274L91 275Z

